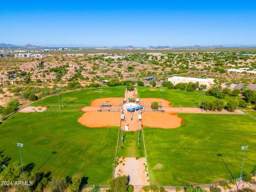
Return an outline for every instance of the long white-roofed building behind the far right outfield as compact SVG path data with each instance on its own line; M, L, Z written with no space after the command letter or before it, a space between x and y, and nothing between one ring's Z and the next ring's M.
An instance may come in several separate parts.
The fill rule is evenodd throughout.
M213 78L194 78L194 77L180 77L180 76L174 76L168 78L168 81L171 82L172 84L176 85L178 83L196 83L198 82L199 85L206 85L206 87L210 87L211 85L214 84L214 79Z

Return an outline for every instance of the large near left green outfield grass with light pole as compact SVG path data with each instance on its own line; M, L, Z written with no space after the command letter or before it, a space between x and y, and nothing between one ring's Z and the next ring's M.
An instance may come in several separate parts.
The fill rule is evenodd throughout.
M20 161L17 142L22 142L23 163L51 176L74 174L89 183L107 184L113 175L118 127L92 129L77 122L83 113L17 113L0 125L0 151ZM57 154L52 155L52 151Z

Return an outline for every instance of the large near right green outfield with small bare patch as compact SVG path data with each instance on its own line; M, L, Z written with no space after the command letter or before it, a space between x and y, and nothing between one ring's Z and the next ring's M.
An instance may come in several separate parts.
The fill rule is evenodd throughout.
M256 170L256 122L249 115L179 114L177 129L145 128L151 185L212 183ZM222 154L222 159L217 156Z

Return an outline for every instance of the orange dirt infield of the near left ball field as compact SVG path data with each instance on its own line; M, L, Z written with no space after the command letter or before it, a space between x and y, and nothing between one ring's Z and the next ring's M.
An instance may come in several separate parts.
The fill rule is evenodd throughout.
M118 112L88 111L78 119L78 122L87 127L100 128L119 126L120 120L121 114Z

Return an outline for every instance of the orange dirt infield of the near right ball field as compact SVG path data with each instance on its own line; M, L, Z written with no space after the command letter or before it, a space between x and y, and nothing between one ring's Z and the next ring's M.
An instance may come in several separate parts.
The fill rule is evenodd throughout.
M142 125L144 127L155 127L163 129L174 129L183 124L183 119L174 113L143 113Z

